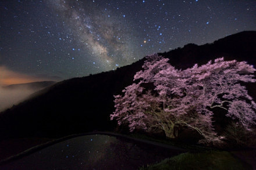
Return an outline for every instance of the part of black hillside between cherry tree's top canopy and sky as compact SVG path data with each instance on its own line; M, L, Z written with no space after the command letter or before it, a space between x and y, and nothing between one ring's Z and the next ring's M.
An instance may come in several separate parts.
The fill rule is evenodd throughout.
M187 44L183 48L161 53L168 57L176 68L192 67L195 63L204 64L216 57L225 60L247 61L256 67L256 31L244 31L214 41L212 44Z

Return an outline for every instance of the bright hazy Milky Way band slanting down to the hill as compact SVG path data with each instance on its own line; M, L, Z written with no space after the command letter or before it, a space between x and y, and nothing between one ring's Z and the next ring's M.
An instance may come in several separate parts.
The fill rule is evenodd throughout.
M132 52L132 35L118 17L100 9L94 2L49 1L56 15L67 23L76 37L81 49L109 70L118 63L130 63L134 58ZM136 39L133 37L133 39ZM72 50L81 50L72 49ZM86 54L85 54L86 56ZM94 62L95 63L95 62Z

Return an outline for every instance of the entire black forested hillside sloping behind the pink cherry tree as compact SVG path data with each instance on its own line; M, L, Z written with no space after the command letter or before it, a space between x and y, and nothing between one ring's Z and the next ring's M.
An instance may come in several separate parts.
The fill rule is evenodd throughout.
M219 39L212 44L188 44L159 55L168 57L176 68L207 63L216 57L246 60L256 66L256 31L244 31ZM88 77L58 82L0 113L0 139L24 136L60 137L88 131L116 131L114 97L130 85L145 59L129 66ZM246 84L256 99L255 84Z

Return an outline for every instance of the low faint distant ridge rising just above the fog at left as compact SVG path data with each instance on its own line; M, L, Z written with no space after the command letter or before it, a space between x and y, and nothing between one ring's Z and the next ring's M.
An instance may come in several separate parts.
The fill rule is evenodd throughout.
M24 84L13 84L8 86L3 86L4 89L31 89L34 91L38 91L40 89L46 88L47 86L55 84L56 81L40 81L40 82L30 82Z

